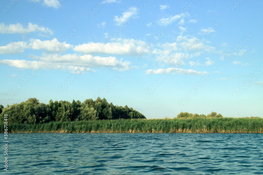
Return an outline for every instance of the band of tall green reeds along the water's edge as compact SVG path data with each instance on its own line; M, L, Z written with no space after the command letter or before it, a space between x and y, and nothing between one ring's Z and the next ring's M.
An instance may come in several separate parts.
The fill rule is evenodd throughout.
M4 124L0 124L1 133ZM262 118L118 119L11 124L8 132L263 133Z

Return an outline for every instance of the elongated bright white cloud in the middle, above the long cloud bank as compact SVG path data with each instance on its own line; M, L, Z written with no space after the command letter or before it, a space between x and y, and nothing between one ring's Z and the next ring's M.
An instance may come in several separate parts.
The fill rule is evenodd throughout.
M138 55L149 52L145 41L134 39L114 39L112 43L93 43L75 46L73 50L84 54Z

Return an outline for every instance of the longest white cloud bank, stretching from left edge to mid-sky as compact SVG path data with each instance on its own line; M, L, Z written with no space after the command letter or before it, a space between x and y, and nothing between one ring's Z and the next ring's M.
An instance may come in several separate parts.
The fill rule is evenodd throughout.
M60 69L72 73L94 71L91 68L111 68L112 70L125 71L134 68L130 62L117 60L116 57L100 57L78 54L43 54L42 56L31 55L27 60L0 60L0 65L9 65L22 69Z

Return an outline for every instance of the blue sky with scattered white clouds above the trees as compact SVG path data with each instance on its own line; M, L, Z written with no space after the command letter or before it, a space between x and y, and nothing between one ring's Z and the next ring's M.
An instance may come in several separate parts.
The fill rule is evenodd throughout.
M262 1L0 2L0 104L263 117Z

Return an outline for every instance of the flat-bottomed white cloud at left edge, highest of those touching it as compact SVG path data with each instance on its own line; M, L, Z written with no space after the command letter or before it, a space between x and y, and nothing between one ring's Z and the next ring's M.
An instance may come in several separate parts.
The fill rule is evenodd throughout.
M35 31L42 31L44 33L53 35L52 30L45 27L39 27L38 24L28 23L28 28L24 28L23 25L20 23L9 25L0 23L0 33L31 33Z

